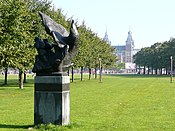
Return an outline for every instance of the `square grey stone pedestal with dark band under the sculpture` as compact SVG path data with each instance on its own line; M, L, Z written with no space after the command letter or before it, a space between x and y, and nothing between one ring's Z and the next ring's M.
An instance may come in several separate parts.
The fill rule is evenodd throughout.
M37 75L34 93L34 124L68 125L70 78L62 74Z

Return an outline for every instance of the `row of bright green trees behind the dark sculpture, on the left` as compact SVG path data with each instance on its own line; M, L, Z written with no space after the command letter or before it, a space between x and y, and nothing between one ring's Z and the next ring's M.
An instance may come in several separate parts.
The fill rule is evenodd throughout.
M19 69L20 88L23 88L22 74L32 69L37 54L34 38L48 38L53 42L41 24L39 11L69 30L71 18L66 19L62 10L55 9L48 0L0 0L0 68L5 69L5 74L9 67ZM97 68L99 58L103 67L114 65L114 49L86 27L85 22L77 23L80 38L74 67Z

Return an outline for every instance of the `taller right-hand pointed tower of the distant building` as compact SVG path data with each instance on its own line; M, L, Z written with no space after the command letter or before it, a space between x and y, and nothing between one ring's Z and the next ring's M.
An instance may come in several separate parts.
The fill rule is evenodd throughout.
M134 51L134 40L132 39L132 32L128 32L125 47L125 63L133 63L133 51Z

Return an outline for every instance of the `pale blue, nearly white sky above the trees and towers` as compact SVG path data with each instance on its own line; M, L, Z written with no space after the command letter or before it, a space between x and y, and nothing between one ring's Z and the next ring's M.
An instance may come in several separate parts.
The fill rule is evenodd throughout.
M63 14L84 20L111 45L125 45L131 30L135 48L148 47L175 37L175 0L52 0Z

